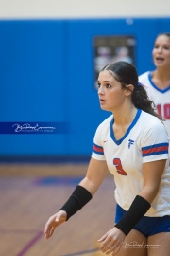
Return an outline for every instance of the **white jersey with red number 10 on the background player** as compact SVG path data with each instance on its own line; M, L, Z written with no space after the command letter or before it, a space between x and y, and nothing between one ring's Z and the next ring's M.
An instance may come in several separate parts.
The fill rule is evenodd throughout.
M150 71L139 76L139 82L146 86L144 89L147 91L151 101L157 106L159 115L166 119L164 125L170 138L170 86L164 90L158 88L152 81Z

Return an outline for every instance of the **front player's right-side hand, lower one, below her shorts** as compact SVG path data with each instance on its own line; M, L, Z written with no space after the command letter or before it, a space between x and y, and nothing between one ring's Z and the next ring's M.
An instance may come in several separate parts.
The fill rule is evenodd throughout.
M116 254L120 250L125 238L125 233L114 227L98 240L98 242L102 243L100 250L106 254L111 252L112 255Z

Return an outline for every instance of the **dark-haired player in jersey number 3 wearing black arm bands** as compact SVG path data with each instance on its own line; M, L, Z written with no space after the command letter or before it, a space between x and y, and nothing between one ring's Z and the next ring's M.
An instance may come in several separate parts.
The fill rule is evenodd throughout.
M131 64L107 65L99 73L98 95L101 108L113 115L98 126L88 172L47 221L45 237L92 199L109 169L116 185L116 225L98 240L100 250L119 256L168 256L170 172L164 126ZM139 246L127 246L134 241Z

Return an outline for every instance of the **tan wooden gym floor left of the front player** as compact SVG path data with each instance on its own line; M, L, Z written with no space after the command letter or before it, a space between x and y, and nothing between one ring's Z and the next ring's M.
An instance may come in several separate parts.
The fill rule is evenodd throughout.
M44 239L48 218L86 174L87 164L0 165L1 256L101 256L99 239L113 226L114 181L108 174L82 210Z

